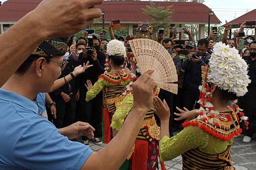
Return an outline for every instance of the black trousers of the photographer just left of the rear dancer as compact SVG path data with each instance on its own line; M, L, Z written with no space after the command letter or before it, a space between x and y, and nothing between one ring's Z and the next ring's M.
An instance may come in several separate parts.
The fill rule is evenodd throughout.
M86 91L80 89L80 99L77 101L76 121L89 123L95 128L94 136L99 138L102 136L101 121L102 121L102 93L89 102L86 102ZM83 140L86 140L83 137Z

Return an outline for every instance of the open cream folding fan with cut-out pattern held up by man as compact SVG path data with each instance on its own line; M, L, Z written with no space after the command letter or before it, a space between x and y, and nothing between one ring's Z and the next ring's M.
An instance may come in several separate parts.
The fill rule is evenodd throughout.
M151 77L158 87L177 94L178 84L173 83L178 81L176 67L165 47L150 39L133 39L129 43L142 74L154 69Z

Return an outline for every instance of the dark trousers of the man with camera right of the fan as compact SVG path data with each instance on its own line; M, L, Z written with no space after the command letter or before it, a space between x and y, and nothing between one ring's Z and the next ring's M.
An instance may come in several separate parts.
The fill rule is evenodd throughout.
M183 93L183 105L188 108L188 110L193 110L194 108L200 108L200 104L197 103L199 100L200 91L192 91L188 88L184 88Z

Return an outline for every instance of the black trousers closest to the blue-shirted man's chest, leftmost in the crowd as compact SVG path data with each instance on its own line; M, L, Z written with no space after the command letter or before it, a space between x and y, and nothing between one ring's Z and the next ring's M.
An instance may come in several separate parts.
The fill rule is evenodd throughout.
M76 113L76 94L70 95L71 100L65 102L61 95L54 96L56 103L56 119L53 119L53 123L56 128L63 128L75 123Z

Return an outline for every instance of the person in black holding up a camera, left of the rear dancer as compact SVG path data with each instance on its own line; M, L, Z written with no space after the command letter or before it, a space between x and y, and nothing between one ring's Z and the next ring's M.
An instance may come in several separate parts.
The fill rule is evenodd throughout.
M90 102L86 102L87 89L85 84L87 80L90 80L94 84L98 77L103 74L105 56L100 51L99 36L95 33L88 35L88 47L86 47L82 53L79 54L78 63L89 62L94 65L88 68L86 72L78 76L79 81L79 100L77 101L76 120L88 122L95 128L96 144L102 144L101 141L101 114L102 114L102 94L98 94L96 98ZM88 145L89 140L87 137L83 137L83 143Z

